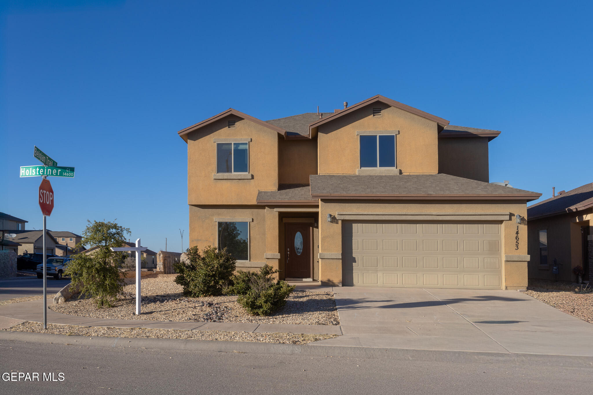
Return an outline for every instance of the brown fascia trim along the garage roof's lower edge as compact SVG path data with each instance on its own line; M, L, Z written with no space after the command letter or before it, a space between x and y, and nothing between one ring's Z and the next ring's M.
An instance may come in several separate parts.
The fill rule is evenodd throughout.
M359 200L536 200L541 194L533 195L431 195L431 194L417 194L417 195L385 195L385 194L327 194L327 195L311 195L315 199L359 199Z

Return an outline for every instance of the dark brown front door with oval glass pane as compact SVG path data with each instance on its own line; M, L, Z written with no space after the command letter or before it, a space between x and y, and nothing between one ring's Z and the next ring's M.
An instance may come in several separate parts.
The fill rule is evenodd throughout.
M311 278L313 227L308 223L284 224L286 278Z

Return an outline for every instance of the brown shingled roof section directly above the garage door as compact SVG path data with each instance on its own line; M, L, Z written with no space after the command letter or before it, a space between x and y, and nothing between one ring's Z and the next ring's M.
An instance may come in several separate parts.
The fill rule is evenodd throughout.
M311 197L339 199L525 199L537 192L448 174L311 175Z

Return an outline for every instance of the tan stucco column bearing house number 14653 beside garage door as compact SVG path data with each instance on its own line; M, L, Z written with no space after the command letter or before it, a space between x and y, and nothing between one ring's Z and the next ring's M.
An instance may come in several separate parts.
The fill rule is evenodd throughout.
M521 223L517 223L515 216L521 216ZM511 213L511 219L502 223L502 254L505 261L503 277L504 289L524 290L527 288L527 205L516 213Z

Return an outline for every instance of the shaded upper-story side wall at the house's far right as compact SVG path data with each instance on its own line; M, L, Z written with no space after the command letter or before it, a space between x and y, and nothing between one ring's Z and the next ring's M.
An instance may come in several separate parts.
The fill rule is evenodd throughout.
M445 137L438 143L439 173L490 182L487 137Z

